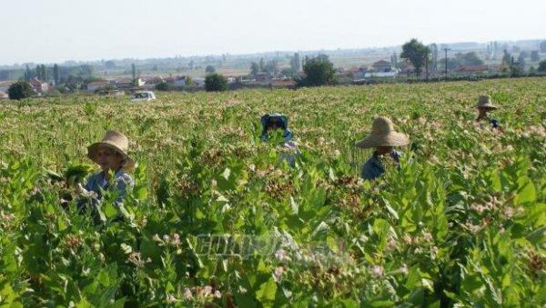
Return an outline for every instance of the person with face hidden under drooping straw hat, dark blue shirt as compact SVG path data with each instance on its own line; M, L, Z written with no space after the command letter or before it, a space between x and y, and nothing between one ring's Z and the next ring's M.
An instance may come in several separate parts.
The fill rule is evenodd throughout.
M371 133L360 140L356 146L362 149L375 147L375 151L369 160L362 166L361 176L365 180L374 180L385 172L382 160L390 157L395 164L399 164L401 153L394 150L394 146L409 144L406 134L397 133L388 117L379 116L371 124Z

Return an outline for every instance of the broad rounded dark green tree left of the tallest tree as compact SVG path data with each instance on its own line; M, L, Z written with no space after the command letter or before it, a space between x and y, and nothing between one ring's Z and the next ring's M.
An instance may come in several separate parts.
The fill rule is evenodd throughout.
M334 78L336 69L329 61L328 55L318 55L308 59L303 66L305 78L297 80L298 86L319 86L325 84L337 84Z

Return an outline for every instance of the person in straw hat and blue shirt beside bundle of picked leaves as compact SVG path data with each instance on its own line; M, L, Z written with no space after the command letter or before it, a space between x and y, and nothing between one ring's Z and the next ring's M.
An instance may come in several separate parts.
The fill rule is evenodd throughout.
M100 142L87 147L87 157L100 165L101 172L89 176L86 184L83 187L80 184L78 190L81 195L90 197L92 204L102 200L104 191L116 194L115 204L122 204L127 191L133 187L133 179L126 174L135 166L127 154L128 146L129 140L124 134L108 131ZM78 206L85 202L86 199L80 199Z

